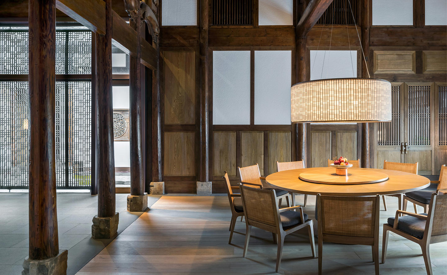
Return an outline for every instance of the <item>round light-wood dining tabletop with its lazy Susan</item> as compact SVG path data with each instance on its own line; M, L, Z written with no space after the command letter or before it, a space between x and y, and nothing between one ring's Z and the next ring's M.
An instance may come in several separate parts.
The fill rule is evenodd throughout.
M347 172L347 176L337 176L332 167L293 169L270 174L266 182L293 193L350 197L401 194L430 185L425 176L407 172L373 168Z

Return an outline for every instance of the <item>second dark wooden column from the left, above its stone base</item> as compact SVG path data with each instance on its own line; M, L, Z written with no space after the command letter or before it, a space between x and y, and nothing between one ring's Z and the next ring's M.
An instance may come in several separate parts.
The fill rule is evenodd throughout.
M105 34L96 34L98 218L115 214L111 0L105 0L105 11Z

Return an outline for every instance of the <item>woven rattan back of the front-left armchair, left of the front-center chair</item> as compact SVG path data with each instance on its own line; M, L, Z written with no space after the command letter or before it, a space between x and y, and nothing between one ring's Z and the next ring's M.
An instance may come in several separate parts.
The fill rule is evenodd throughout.
M256 227L262 225L278 226L278 203L274 190L264 190L240 185L242 205L244 205L245 219Z

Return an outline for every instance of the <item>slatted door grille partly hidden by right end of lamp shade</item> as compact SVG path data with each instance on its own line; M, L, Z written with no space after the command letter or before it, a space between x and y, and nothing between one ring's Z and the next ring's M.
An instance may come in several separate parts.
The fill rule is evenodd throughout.
M391 122L380 122L377 145L401 145L401 86L391 86Z

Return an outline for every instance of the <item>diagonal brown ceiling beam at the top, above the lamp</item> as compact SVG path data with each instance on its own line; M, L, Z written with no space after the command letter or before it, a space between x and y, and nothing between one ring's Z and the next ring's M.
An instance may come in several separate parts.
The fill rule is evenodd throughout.
M320 19L321 15L329 7L332 1L333 0L312 0L309 2L296 25L297 37L306 37L310 29L312 29L313 25Z

